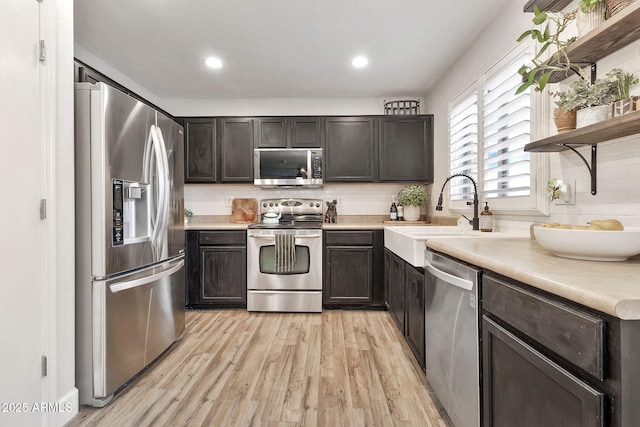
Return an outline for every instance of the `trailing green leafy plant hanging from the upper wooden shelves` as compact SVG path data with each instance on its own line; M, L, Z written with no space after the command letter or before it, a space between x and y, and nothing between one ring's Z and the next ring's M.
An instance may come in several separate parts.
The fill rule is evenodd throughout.
M580 66L572 64L566 52L566 48L576 40L576 37L568 39L562 37L562 33L575 19L577 11L575 9L568 13L548 13L534 6L532 19L534 27L520 34L518 43L531 38L537 41L540 47L536 55L531 58L531 64L525 64L518 70L518 74L524 81L516 90L516 94L524 92L531 86L538 91L544 90L549 78L555 72L563 72L567 77L572 72L582 74ZM550 50L555 50L551 57L542 59Z

